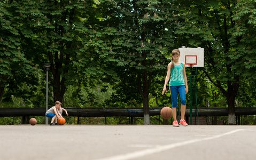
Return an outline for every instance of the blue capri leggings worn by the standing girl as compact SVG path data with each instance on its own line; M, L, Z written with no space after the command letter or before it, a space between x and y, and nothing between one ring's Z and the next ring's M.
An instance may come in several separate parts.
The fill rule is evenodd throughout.
M173 108L178 107L178 104L177 104L178 92L180 94L181 104L186 105L185 85L170 86L170 93L172 95L172 107Z

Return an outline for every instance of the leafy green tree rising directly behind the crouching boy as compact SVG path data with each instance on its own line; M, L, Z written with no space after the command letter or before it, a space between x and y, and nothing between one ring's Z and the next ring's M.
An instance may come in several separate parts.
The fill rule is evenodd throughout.
M43 58L41 64L51 63L53 99L62 101L66 85L81 78L81 70L77 70L83 56L80 49L89 42L84 32L96 19L94 1L40 1L32 5L38 12L37 26L33 26L34 52Z

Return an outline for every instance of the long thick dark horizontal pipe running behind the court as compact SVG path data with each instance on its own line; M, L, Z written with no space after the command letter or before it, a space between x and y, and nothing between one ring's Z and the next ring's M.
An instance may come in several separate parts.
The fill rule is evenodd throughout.
M143 108L65 108L69 116L75 117L143 117ZM162 108L149 108L150 116L160 115ZM65 115L65 112L63 112ZM235 108L235 115L256 115L256 107ZM45 116L45 108L0 108L0 117ZM185 116L190 116L186 109ZM192 109L195 116L195 109ZM228 116L228 108L198 108L198 116Z

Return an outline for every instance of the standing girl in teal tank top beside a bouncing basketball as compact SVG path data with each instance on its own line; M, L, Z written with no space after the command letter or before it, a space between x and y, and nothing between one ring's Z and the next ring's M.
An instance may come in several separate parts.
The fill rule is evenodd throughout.
M162 95L167 92L166 85L169 81L170 93L172 95L172 109L173 109L173 126L179 127L180 125L188 126L185 122L186 110L186 94L188 93L187 75L185 73L185 64L179 61L181 53L175 49L172 51L172 62L168 64L167 75L165 77L165 85L162 89ZM181 120L180 125L177 122L177 93L179 92L181 98Z

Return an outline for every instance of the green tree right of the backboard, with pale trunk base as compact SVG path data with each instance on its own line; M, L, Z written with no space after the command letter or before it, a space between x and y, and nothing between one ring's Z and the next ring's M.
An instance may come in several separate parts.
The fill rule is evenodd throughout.
M256 78L255 3L247 0L178 3L179 30L175 33L184 45L204 47L204 73L226 97L229 124L235 124L235 99L241 81Z

